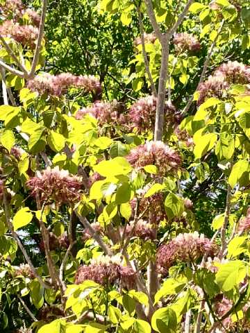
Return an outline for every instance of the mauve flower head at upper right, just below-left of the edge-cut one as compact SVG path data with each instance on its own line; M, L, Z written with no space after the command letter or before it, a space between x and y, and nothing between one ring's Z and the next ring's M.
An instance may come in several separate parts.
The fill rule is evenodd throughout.
M201 105L206 101L206 99L209 99L210 97L222 99L224 92L226 89L228 89L228 87L229 85L226 82L224 76L209 76L208 80L201 83L197 89L199 92L197 105Z

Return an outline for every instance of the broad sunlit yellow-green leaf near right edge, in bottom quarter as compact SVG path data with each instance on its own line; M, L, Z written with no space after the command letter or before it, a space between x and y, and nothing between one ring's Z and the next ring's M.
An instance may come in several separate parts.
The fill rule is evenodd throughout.
M247 268L244 262L235 260L226 264L219 265L219 271L216 273L216 282L223 291L230 291L236 287L247 274Z

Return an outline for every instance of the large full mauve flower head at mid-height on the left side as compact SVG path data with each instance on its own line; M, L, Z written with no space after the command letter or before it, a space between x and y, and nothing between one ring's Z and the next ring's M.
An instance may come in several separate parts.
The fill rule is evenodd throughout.
M59 167L48 167L42 173L37 171L35 177L29 179L26 185L33 196L38 195L42 203L54 201L57 205L76 203L80 200L81 180L69 175L69 171Z

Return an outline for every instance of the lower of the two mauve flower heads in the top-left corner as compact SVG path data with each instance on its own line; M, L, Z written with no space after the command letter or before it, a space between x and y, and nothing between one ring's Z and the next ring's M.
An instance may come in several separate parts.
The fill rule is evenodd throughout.
M35 49L35 40L38 38L38 28L31 25L21 26L12 20L4 21L0 26L0 35L9 37L23 46L30 46Z

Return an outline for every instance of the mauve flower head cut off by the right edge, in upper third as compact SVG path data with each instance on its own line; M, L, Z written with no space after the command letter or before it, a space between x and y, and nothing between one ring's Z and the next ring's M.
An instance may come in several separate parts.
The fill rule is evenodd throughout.
M250 66L238 61L228 61L215 70L215 76L223 76L229 84L246 85L250 83Z

